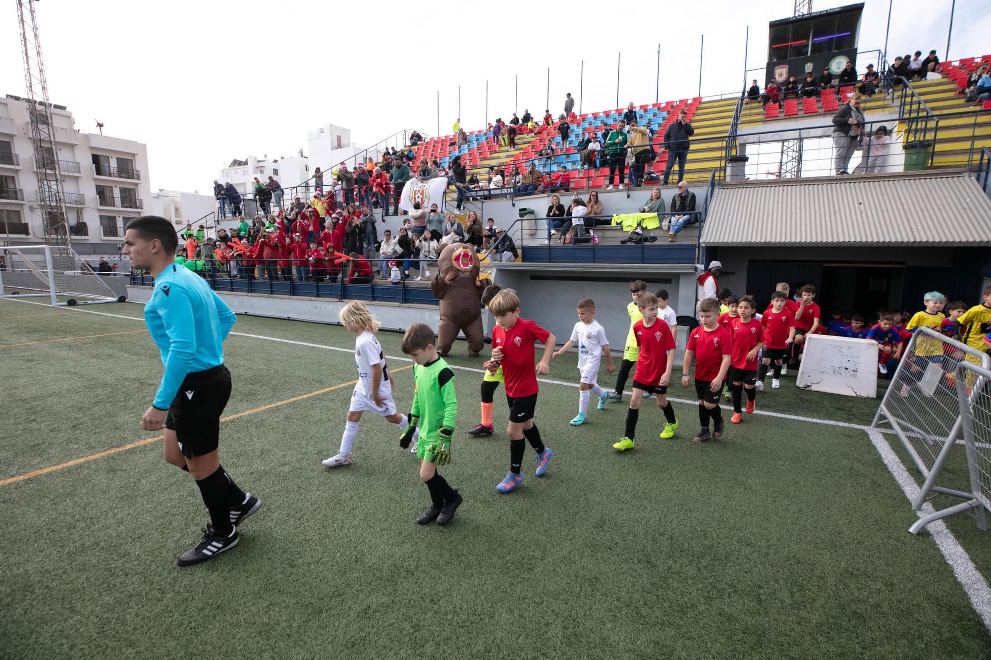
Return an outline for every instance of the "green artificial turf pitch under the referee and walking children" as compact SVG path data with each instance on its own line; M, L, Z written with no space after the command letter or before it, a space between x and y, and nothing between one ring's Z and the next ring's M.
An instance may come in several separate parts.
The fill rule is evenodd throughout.
M46 311L0 301L0 343L142 327L70 310L11 318ZM341 328L239 317L235 331L349 351L232 336L228 414L355 378ZM400 355L397 335L380 339ZM456 344L449 362L477 368L464 353ZM138 429L162 373L147 334L0 349L0 373L0 479L155 435ZM564 356L548 378L576 376ZM396 380L404 409L411 374ZM682 426L661 441L647 402L637 448L616 455L625 404L573 428L576 388L545 384L537 422L556 456L535 479L527 450L523 486L499 495L504 437L465 435L480 380L456 372L458 440L442 473L465 504L447 528L412 522L426 489L382 419L363 419L354 464L320 466L350 386L223 425L225 467L265 503L238 548L201 566L174 567L206 516L159 443L0 487L0 657L991 654L936 545L905 531L914 514L863 431L752 415L694 445L696 408L676 403ZM869 423L876 402L786 380L758 406ZM500 389L497 429L505 410ZM985 568L989 539L967 524L951 528Z

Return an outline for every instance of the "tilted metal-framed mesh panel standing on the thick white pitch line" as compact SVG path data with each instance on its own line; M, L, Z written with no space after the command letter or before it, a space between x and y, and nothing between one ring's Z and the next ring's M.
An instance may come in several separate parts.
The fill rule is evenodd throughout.
M935 330L919 328L871 422L872 428L881 430L885 430L882 424L890 426L925 479L912 502L917 511L935 495L973 498L970 493L936 485L949 452L962 434L957 382L963 380L964 387L975 391L973 372L961 369L962 364L987 370L991 357Z

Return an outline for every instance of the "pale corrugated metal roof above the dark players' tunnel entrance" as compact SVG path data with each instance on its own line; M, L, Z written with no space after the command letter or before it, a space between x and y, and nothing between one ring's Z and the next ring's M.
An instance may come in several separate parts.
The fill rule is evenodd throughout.
M991 245L991 199L966 173L719 186L703 245Z

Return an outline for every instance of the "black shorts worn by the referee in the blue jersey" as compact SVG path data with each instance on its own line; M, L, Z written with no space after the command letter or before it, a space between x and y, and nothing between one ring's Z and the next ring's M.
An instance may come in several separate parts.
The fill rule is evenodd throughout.
M224 365L186 374L165 415L165 428L175 431L183 456L203 456L217 449L220 415L230 397L231 373Z

